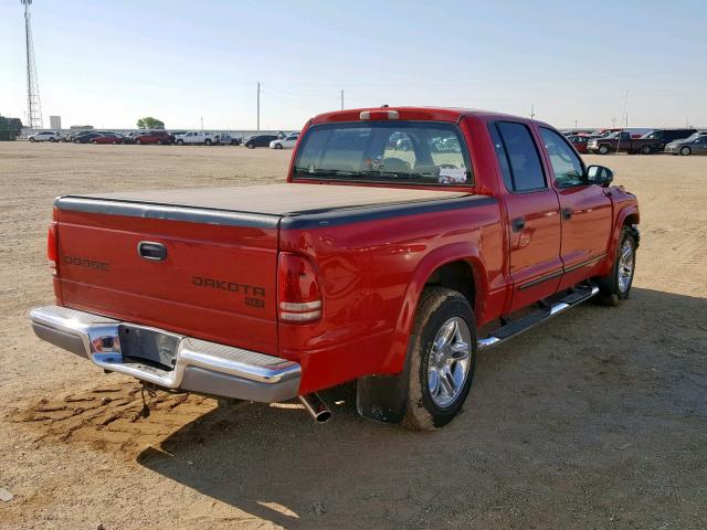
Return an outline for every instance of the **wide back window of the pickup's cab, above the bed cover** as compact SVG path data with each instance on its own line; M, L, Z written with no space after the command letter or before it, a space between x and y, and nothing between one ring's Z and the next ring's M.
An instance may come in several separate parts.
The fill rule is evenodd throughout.
M458 128L434 121L313 126L299 145L293 178L409 184L473 184Z

